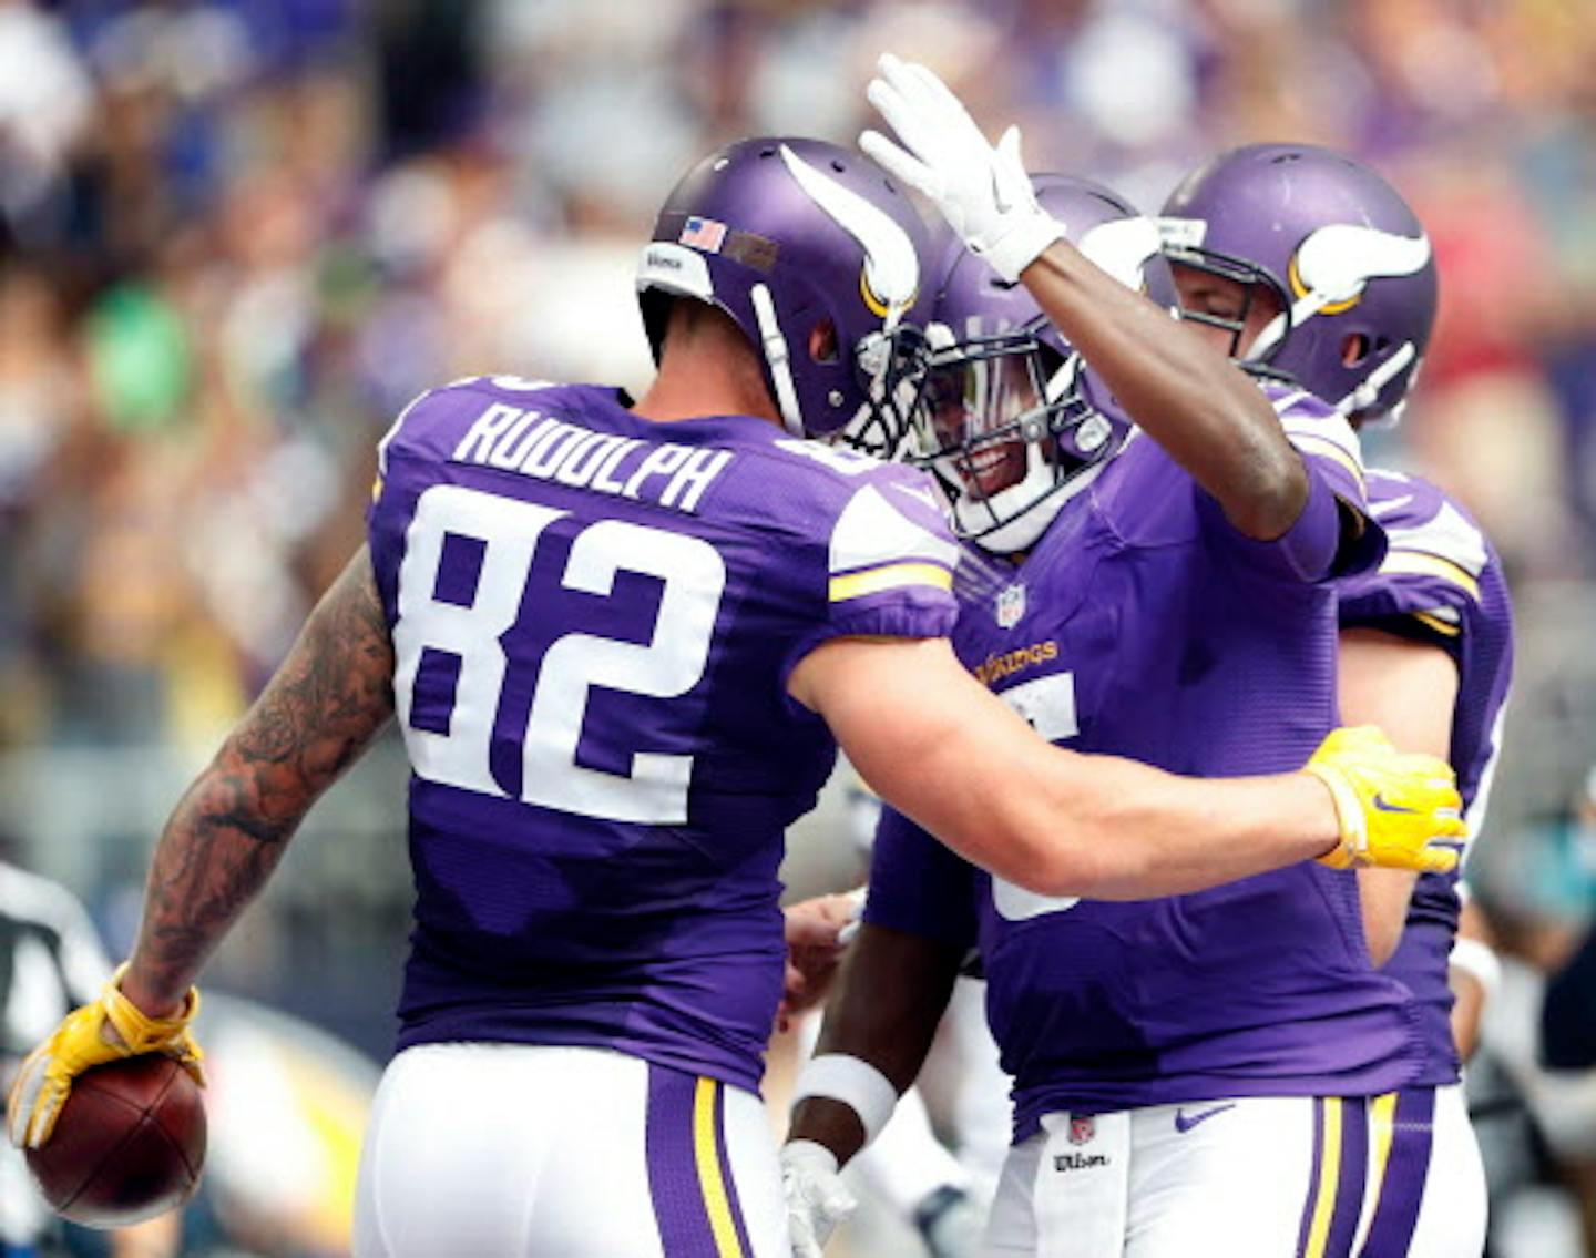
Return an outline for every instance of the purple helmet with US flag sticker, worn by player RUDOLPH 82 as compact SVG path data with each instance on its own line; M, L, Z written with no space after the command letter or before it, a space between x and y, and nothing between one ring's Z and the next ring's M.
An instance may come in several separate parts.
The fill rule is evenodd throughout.
M875 163L809 139L749 139L677 184L637 271L658 361L674 297L755 346L782 423L886 452L919 367L926 228Z

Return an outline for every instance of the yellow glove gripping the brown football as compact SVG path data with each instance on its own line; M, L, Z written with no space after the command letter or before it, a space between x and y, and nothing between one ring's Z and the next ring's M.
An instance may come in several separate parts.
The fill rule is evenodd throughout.
M121 995L118 983L126 969L128 963L123 961L101 998L67 1014L54 1034L22 1062L6 1103L6 1133L19 1149L37 1149L49 1140L72 1092L72 1081L105 1062L163 1052L177 1058L195 1082L204 1086L204 1070L200 1066L204 1052L188 1031L188 1023L200 1012L200 990L188 988L182 1012L176 1017L145 1017Z

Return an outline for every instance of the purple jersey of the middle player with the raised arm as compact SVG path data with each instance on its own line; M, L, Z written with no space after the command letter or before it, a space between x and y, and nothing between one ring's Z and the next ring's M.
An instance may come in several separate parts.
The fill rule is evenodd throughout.
M1384 538L1352 429L1306 394L1270 396L1312 484L1285 536L1242 536L1136 437L961 608L961 658L1044 738L1234 776L1301 768L1336 725L1331 578L1377 564ZM867 916L954 944L975 931L1017 1138L1058 1110L1374 1094L1417 1071L1412 999L1368 964L1350 870L1047 899L887 813Z

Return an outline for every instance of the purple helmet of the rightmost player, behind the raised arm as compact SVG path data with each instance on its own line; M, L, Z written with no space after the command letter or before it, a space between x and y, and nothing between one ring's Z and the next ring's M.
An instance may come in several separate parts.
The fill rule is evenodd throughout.
M1408 203L1366 166L1310 144L1251 144L1192 171L1160 220L1163 254L1266 289L1283 311L1251 345L1242 318L1186 311L1231 332L1232 353L1347 417L1395 410L1435 322L1435 257Z

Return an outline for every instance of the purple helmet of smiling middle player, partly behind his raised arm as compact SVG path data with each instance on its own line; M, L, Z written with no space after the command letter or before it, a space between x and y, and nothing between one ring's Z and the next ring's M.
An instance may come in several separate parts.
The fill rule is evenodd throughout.
M1041 174L1033 185L1080 252L1175 308L1151 219L1085 179ZM1092 482L1132 421L1023 284L1005 284L958 239L942 249L915 461L953 503L956 533L1012 554Z

